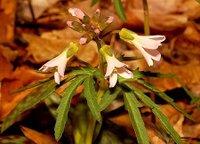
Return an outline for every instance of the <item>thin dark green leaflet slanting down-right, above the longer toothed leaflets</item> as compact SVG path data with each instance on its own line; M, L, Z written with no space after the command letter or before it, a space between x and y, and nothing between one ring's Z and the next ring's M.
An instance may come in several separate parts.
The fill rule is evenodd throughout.
M146 83L143 80L137 80L137 82L143 86L145 86L146 88L148 88L149 90L155 92L158 94L158 96L160 96L163 100L165 100L166 102L170 103L175 109L177 109L179 112L181 112L185 117L187 117L188 119L194 121L194 118L187 114L183 109L181 109L172 98L170 98L167 94L165 94L164 92L160 91L159 89L155 88L154 86Z

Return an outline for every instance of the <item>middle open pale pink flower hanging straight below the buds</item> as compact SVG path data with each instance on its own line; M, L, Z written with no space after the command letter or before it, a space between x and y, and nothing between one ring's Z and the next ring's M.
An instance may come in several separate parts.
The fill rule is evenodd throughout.
M105 78L109 78L109 87L112 88L117 83L117 75L128 79L133 78L133 73L127 69L126 64L120 62L110 51L110 47L107 45L101 48L101 52L107 62Z

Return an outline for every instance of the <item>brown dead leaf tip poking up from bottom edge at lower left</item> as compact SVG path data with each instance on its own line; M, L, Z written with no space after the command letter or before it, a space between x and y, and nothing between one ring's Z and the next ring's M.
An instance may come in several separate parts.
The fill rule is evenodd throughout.
M21 126L23 134L36 144L58 144L55 138L49 134L43 134L36 130Z

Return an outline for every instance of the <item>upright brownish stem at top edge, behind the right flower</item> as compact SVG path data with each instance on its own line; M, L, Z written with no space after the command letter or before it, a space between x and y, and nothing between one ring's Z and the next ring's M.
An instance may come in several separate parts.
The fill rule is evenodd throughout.
M150 35L149 9L147 0L143 0L143 9L144 9L144 33L145 35Z

